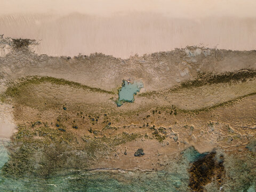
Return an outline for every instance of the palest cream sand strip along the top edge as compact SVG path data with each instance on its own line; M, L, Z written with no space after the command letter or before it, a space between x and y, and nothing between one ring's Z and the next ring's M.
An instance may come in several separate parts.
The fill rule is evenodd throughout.
M254 0L0 0L0 14L77 12L109 16L115 13L163 13L173 18L255 17Z

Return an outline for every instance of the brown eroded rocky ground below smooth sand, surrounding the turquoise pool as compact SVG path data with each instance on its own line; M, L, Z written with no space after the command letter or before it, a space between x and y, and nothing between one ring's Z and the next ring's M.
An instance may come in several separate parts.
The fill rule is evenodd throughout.
M17 133L4 177L75 174L63 191L81 179L93 188L86 174L118 182L105 183L109 191L255 188L254 51L188 47L128 60L54 58L11 43L0 58L1 109L12 106ZM123 79L140 79L145 88L117 107ZM143 155L134 156L138 149Z

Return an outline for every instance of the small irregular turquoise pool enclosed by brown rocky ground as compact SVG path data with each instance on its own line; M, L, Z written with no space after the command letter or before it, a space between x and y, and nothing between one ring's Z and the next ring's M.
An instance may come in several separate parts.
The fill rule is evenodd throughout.
M128 81L124 81L122 88L118 91L119 97L117 106L122 106L124 102L133 102L134 94L137 94L137 92L139 92L142 87L142 82L129 83Z

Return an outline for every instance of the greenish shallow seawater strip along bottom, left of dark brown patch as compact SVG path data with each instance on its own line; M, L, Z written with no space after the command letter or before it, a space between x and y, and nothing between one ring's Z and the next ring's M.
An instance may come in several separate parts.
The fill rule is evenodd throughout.
M174 172L95 172L51 179L2 178L1 191L186 191L188 177Z

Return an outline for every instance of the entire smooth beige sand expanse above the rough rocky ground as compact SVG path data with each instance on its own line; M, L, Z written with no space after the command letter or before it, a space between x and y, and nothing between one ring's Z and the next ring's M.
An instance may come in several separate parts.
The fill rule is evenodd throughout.
M0 0L1 2L2 0ZM8 1L0 34L42 40L39 54L129 58L187 45L254 50L255 1Z

